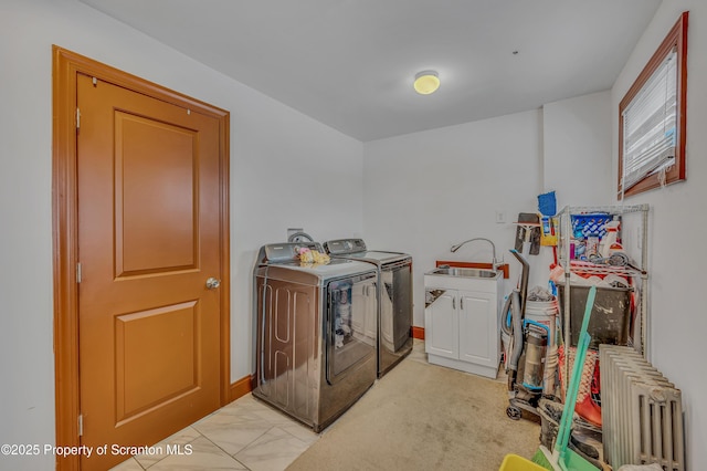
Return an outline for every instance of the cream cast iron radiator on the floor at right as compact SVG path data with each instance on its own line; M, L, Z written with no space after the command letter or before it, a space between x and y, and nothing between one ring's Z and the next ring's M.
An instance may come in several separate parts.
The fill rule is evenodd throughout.
M680 390L634 348L599 346L604 459L685 471Z

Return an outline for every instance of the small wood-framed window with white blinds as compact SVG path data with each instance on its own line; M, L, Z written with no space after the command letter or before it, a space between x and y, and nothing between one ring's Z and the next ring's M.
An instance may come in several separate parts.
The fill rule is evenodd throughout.
M619 198L685 179L684 12L619 105Z

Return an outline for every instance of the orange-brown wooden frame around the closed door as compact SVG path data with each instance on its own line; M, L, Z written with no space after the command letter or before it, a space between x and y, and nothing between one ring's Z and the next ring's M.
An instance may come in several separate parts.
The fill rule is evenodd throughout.
M221 405L230 393L230 222L229 132L230 114L224 109L168 90L135 75L52 45L52 243L54 278L54 388L56 446L78 447L78 205L76 177L76 74L84 73L124 88L198 111L219 121L221 280L220 391ZM151 444L151 443L149 443ZM80 469L80 457L56 459L56 469Z

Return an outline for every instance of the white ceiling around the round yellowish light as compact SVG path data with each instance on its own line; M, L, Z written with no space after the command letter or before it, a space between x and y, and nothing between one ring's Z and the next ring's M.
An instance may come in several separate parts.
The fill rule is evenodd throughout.
M661 3L81 1L362 142L609 90Z

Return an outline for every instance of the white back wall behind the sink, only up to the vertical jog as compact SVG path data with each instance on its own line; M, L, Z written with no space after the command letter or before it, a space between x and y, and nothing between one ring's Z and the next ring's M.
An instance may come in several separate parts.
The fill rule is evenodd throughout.
M508 252L516 228L509 222L537 210L541 119L534 111L365 144L366 242L413 257L414 325L424 326L423 273L436 260L492 259L484 242L451 253L455 243L492 239L498 259L511 266L505 290L517 282L520 264ZM496 223L496 210L509 222ZM547 264L536 270L534 255L525 255L534 280L547 284Z

